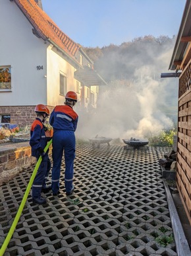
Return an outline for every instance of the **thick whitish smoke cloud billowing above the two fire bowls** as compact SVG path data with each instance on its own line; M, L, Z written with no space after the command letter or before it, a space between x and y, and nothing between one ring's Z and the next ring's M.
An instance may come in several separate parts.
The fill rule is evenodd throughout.
M160 78L170 58L168 50L154 64L134 69L129 79L99 87L96 109L82 110L76 106L79 115L76 136L85 139L96 135L112 139L149 138L172 128L173 118L166 110L172 107L169 99L178 102L178 80ZM138 59L134 58L133 62Z

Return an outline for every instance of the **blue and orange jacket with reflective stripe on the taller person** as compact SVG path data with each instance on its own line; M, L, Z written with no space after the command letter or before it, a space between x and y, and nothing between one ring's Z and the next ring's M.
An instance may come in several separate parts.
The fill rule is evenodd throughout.
M68 105L59 105L51 112L49 122L54 129L75 132L78 123L78 114Z

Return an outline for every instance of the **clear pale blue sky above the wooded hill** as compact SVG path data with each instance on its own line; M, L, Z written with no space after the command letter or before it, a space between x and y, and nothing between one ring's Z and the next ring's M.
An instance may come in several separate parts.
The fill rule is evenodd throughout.
M147 35L177 36L186 0L41 0L74 42L103 47Z

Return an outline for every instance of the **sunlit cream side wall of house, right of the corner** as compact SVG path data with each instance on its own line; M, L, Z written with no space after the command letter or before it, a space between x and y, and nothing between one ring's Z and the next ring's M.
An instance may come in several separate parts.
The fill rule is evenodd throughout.
M65 102L65 97L60 95L60 73L67 77L67 91L76 92L74 67L59 54L54 48L47 48L47 105L49 106L63 105Z

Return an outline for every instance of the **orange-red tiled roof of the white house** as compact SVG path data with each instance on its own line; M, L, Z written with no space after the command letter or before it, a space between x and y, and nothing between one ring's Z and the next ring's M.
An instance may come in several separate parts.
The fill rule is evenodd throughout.
M74 56L80 45L63 33L34 0L14 0L14 2L43 40L50 40L55 43L56 46L59 46L61 50L66 52L76 62Z

